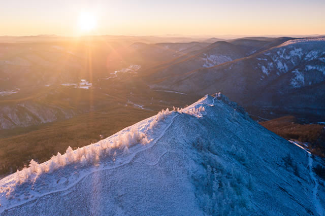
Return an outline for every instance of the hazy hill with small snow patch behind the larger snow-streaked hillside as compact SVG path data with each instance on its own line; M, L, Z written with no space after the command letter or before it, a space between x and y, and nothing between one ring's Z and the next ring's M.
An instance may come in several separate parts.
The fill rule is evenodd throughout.
M151 79L168 79L169 77L186 76L190 71L212 67L225 62L250 56L253 53L267 50L282 44L290 38L273 38L272 40L235 39L217 41L205 48L188 52L169 62L149 68ZM201 45L202 46L202 45Z

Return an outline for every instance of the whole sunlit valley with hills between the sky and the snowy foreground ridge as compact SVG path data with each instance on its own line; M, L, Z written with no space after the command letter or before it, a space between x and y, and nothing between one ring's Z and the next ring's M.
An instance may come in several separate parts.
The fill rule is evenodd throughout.
M146 40L0 44L0 175L215 92L324 156L323 126L308 126L325 121L324 38ZM287 115L294 128L272 123Z

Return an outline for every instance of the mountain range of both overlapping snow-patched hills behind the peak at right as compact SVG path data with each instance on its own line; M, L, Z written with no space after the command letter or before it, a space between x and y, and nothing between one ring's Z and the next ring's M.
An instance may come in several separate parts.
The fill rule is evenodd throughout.
M324 118L325 37L239 39L197 52L154 68L151 87L221 91L245 107Z

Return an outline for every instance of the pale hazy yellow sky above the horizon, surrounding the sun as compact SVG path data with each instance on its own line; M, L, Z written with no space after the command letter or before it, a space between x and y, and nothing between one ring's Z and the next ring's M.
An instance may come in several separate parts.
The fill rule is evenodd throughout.
M0 0L0 35L325 34L325 0ZM78 26L92 14L92 32Z

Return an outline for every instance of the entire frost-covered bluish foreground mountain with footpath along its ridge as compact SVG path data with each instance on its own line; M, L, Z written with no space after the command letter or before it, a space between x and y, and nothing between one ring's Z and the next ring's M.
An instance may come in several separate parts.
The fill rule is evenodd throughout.
M322 214L308 153L215 96L1 179L0 213Z

